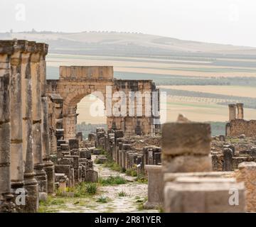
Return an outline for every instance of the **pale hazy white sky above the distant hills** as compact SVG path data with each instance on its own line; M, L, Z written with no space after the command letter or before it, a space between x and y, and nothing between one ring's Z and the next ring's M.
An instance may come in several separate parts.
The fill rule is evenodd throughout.
M1 0L0 32L129 31L256 47L255 0Z

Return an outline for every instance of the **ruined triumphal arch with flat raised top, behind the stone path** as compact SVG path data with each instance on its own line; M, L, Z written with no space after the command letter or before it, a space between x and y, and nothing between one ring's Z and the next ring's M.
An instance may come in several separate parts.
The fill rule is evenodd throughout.
M88 94L104 102L108 129L151 134L159 127L159 90L154 82L114 79L112 66L60 66L59 79L47 80L47 92L50 129L65 140L75 138L76 107Z

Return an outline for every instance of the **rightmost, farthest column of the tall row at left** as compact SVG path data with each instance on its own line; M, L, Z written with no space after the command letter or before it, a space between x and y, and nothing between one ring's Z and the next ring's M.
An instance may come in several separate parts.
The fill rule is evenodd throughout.
M48 98L46 95L46 55L48 45L38 43L41 52L40 58L40 81L41 81L41 102L42 102L42 153L43 165L47 175L48 193L54 193L54 167L50 161L50 138L49 138L49 123L48 123Z

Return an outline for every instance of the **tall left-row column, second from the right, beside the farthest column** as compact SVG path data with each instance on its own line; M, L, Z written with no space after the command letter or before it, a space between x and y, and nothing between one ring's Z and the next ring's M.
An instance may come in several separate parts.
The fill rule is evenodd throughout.
M33 135L33 165L38 181L38 192L47 192L47 175L43 170L42 153L42 103L41 103L41 72L40 72L40 44L36 44L36 52L31 55L32 81L32 135Z

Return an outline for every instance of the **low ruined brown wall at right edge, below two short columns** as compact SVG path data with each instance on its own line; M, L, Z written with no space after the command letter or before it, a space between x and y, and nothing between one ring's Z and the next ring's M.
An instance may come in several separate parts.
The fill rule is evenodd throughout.
M227 136L239 136L242 134L245 134L246 137L256 137L256 120L234 119L227 123Z

